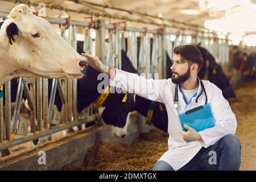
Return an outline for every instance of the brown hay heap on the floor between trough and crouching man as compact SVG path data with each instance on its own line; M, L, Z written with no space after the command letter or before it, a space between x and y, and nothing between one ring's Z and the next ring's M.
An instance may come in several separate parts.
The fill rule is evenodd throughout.
M84 165L64 166L64 170L151 170L167 151L168 134L151 130L130 145L100 142L90 147Z

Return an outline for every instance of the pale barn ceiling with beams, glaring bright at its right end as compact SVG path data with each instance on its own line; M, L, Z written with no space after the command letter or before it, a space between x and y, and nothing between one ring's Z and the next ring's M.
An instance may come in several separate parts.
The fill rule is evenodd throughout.
M44 3L49 17L68 15L82 20L89 13L96 19L105 16L109 22L118 18L183 29L195 24L240 36L256 32L256 26L250 23L256 18L256 0L13 0L0 1L0 10L10 11L17 2Z

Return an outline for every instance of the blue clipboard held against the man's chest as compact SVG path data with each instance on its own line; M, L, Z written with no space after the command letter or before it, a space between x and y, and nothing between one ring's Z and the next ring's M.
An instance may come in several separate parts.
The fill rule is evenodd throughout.
M183 125L188 125L196 131L201 131L215 126L216 123L210 103L179 114L179 120L183 131L188 131Z

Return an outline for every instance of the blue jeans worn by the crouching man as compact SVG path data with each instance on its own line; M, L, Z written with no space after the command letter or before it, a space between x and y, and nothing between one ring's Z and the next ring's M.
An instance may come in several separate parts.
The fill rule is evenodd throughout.
M214 155L216 154L216 155ZM216 156L216 157L214 157ZM241 164L241 144L235 135L226 135L207 148L202 147L199 152L179 171L220 170L237 171ZM153 171L174 171L163 160L159 160L152 168Z

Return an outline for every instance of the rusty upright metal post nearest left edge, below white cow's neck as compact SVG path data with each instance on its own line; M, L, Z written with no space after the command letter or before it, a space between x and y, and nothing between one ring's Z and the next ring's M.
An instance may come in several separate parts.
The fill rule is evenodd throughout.
M11 140L11 81L5 84L5 138Z

